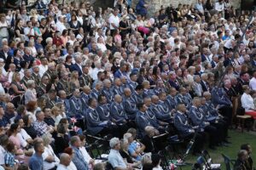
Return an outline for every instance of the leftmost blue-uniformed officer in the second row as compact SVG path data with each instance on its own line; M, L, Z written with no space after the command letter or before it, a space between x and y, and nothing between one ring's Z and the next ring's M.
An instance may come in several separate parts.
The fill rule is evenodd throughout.
M79 120L84 119L85 112L83 111L82 101L80 99L79 89L76 88L73 91L72 97L69 99L71 116L76 117Z

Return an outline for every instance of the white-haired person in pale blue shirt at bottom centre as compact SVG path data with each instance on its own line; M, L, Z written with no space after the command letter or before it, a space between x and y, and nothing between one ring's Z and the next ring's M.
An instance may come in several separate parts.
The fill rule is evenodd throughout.
M118 138L110 139L109 146L111 148L108 155L108 162L114 169L131 170L131 166L127 166L123 157L120 155L119 150L121 149L120 140Z

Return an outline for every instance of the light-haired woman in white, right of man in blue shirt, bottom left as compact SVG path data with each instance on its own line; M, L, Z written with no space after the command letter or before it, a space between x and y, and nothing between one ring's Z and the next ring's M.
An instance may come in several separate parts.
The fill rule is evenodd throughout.
M52 142L51 134L44 133L44 135L42 136L42 139L44 141L44 153L42 155L44 169L45 170L53 169L60 163L60 160L55 155L54 150L50 146L50 143Z

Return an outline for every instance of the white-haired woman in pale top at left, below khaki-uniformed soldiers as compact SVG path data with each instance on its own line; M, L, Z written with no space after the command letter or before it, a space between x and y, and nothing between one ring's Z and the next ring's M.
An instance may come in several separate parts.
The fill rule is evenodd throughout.
M36 83L33 80L27 81L27 89L25 92L25 105L29 101L37 101Z

